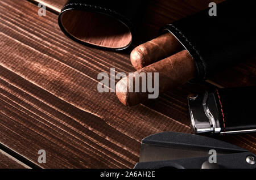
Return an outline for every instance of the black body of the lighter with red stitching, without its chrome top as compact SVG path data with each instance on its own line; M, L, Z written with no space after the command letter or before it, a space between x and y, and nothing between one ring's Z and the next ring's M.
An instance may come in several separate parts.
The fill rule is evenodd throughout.
M256 87L217 89L214 92L222 132L256 130Z

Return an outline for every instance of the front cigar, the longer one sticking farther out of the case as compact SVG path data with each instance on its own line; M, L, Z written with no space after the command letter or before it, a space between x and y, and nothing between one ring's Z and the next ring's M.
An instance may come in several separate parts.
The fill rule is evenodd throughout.
M193 59L187 50L182 50L181 52L155 62L152 65L143 67L141 70L138 70L120 80L117 83L115 90L117 97L122 104L126 106L133 106L148 99L150 92L130 92L130 89L134 88L135 79L139 78L138 75L142 72L146 75L149 72L152 74L154 74L154 72L159 73L159 93L182 85L196 77L195 62L193 62ZM146 77L148 78L148 76ZM152 82L155 82L154 78L155 76L152 75ZM156 85L156 83L154 83L154 85ZM140 89L142 89L142 87L140 87Z

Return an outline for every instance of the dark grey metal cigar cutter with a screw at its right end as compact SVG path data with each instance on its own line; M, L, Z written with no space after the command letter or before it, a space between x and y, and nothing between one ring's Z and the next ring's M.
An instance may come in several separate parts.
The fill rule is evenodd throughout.
M141 157L134 168L255 169L256 164L253 153L236 145L194 134L163 132L142 140Z

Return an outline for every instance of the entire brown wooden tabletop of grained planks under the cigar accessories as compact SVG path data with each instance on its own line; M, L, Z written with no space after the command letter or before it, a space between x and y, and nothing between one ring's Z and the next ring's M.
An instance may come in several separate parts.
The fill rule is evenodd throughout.
M38 2L47 5L46 16L38 16ZM138 42L156 37L162 25L207 8L209 2L150 2ZM65 37L57 24L64 3L0 1L0 168L133 168L144 137L191 132L189 93L214 85L256 85L254 57L217 74L208 80L211 84L185 84L158 100L127 108L115 93L97 91L97 75L110 74L112 67L133 72L129 52L88 48ZM256 134L219 139L256 153ZM46 151L46 164L38 162L40 149Z

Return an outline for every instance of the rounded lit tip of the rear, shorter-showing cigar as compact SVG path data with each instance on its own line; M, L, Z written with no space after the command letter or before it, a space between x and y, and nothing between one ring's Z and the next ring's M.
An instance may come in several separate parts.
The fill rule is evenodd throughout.
M140 45L137 48L135 48L130 55L131 58L131 64L136 70L140 70L144 67L145 59L144 54L142 53L143 46Z

